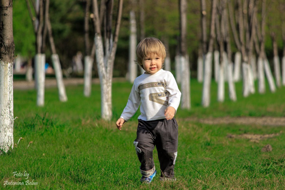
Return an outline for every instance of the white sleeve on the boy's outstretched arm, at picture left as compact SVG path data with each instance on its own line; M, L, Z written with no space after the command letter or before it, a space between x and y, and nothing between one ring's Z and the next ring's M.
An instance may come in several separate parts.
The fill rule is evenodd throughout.
M125 121L128 121L135 115L137 112L139 105L141 103L141 97L138 89L135 87L135 83L133 84L127 105L123 110L123 113L120 118L123 118Z

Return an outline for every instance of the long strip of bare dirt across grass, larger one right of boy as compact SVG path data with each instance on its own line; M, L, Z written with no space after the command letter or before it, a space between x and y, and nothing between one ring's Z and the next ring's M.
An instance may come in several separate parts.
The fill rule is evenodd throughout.
M184 119L185 120L185 119ZM285 126L285 117L218 117L218 118L188 118L205 124L244 124L262 126Z

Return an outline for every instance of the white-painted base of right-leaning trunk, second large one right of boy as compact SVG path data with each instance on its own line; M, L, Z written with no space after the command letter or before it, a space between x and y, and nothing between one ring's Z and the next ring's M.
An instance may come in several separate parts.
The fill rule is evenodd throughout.
M202 60L203 61L203 60ZM211 79L212 79L212 61L213 61L213 53L208 52L205 58L205 69L203 79L203 91L202 91L202 106L209 107L211 101Z

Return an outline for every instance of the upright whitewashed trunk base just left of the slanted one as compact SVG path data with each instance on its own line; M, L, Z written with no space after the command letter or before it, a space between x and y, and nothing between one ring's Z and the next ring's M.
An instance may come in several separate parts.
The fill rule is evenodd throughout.
M37 106L44 106L44 87L45 87L45 54L35 56L35 86L37 89Z

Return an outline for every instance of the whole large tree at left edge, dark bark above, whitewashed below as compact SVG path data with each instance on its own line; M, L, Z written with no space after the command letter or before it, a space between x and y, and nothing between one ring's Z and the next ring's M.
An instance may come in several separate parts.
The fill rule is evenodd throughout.
M0 154L13 149L13 9L11 0L0 3Z

